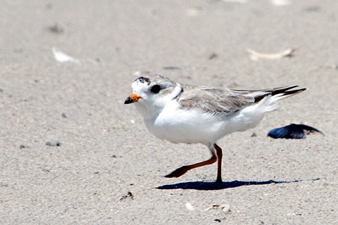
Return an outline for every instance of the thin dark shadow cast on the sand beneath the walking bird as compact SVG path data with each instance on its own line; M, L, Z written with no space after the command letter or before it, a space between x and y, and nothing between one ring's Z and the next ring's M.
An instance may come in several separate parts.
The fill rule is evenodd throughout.
M319 178L318 178L319 179ZM313 181L318 179L312 179ZM240 186L249 186L249 185L264 185L264 184L286 184L286 183L296 183L303 180L295 181L228 181L222 183L216 182L206 182L206 181L194 181L194 182L184 182L178 184L168 184L163 186L158 186L158 189L195 189L201 191L212 191L212 190L221 190L226 188L237 188Z

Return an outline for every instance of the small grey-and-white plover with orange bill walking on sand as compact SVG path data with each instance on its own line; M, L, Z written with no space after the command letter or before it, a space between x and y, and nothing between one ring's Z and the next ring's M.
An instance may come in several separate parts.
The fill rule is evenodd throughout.
M275 89L231 90L173 82L161 75L139 77L125 104L134 103L151 134L172 143L202 143L209 160L176 169L165 177L179 177L189 169L218 161L217 182L222 182L222 149L216 144L226 134L256 127L275 103L305 89L297 85Z

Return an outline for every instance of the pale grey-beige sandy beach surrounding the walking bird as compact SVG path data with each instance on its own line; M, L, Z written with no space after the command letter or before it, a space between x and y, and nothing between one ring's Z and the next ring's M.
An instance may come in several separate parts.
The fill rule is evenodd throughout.
M338 1L0 6L0 224L338 224ZM218 141L216 186L216 164L164 177L210 153L156 139L123 104L149 73L306 91ZM267 136L292 123L325 135Z

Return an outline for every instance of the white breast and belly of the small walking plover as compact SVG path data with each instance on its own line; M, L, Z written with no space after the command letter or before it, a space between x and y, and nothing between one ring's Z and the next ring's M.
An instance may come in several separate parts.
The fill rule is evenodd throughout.
M259 105L259 104L258 104ZM215 143L226 134L256 127L265 110L252 105L232 115L211 115L197 110L182 110L176 101L165 106L158 117L144 120L158 139L172 143Z

